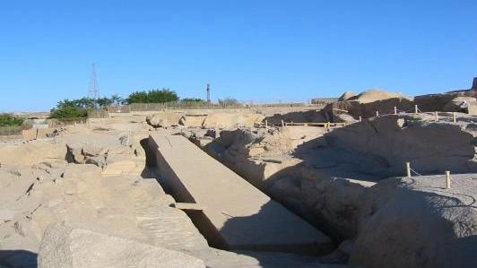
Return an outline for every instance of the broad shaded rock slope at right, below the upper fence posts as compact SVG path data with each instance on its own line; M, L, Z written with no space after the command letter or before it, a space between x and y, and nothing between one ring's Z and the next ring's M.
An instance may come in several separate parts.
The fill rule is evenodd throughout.
M471 123L470 125L473 125ZM348 125L325 134L336 148L376 156L386 161L384 175L403 175L405 162L424 173L477 172L474 136L467 123L429 122L413 116L387 116Z

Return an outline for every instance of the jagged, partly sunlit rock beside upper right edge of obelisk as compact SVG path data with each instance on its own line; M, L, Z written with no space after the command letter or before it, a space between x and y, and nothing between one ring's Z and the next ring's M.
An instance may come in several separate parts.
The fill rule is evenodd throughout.
M224 130L219 138L204 146L204 150L262 189L268 178L277 172L284 175L282 170L301 162L288 154L324 133L325 129L306 126Z

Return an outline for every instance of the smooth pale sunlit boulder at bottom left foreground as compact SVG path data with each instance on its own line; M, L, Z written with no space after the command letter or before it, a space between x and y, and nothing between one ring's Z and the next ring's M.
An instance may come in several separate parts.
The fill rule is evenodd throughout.
M45 231L39 267L205 267L177 251L74 227L65 221Z

